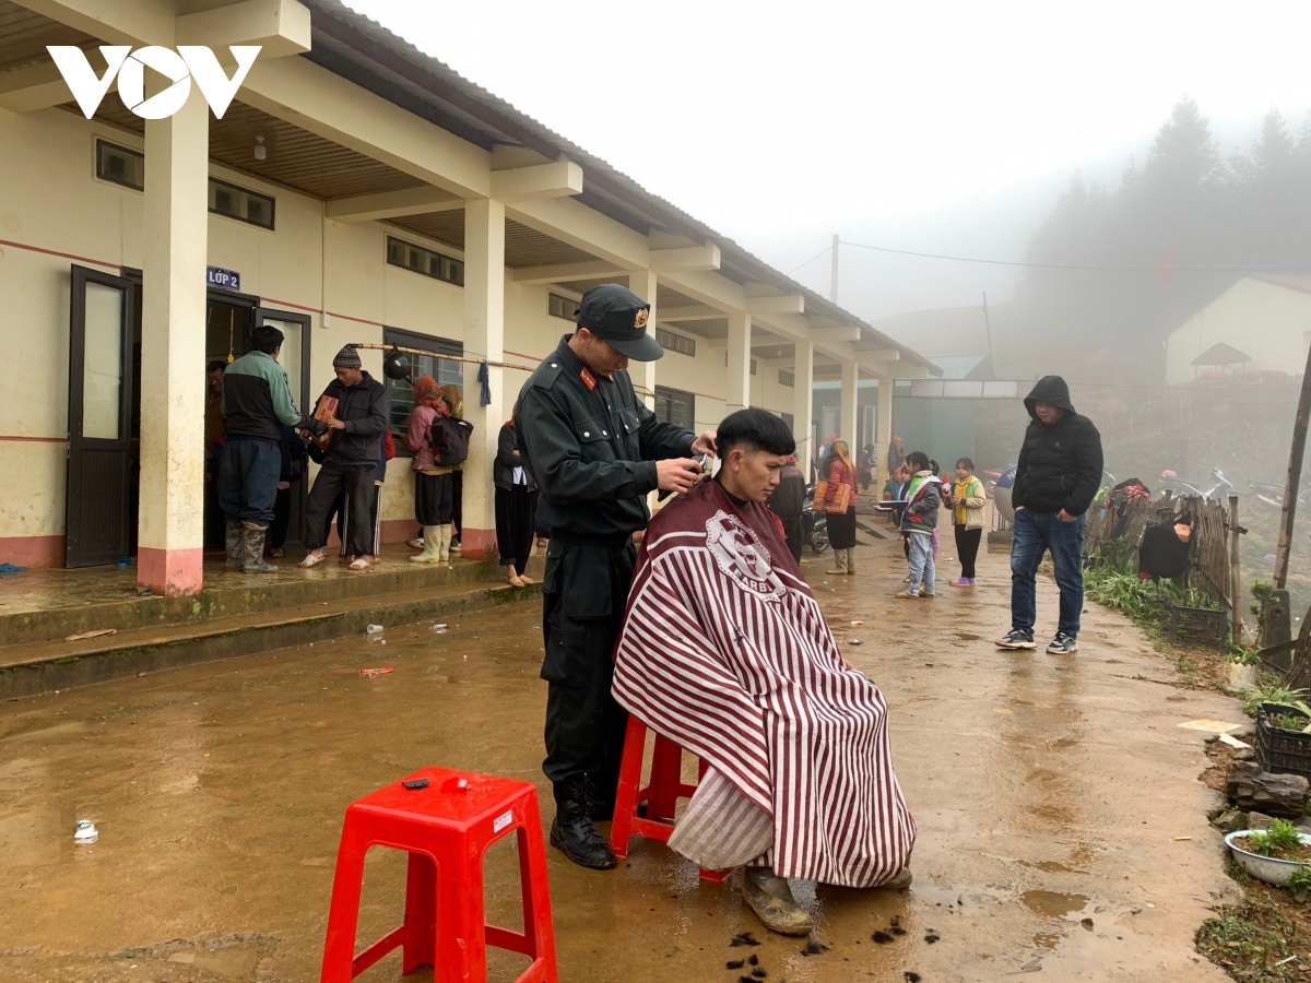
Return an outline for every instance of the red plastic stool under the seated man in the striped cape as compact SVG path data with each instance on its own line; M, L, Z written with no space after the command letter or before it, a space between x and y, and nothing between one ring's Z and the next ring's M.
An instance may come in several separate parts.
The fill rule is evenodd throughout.
M645 752L646 725L629 714L628 733L624 734L624 758L619 764L615 819L610 827L610 848L616 857L628 856L629 836L645 836L669 843L670 834L674 832L674 807L678 800L691 798L696 792L696 785L683 782L683 748L662 734L656 735L650 784L638 788L642 781ZM697 780L704 775L705 761L697 760ZM640 802L646 803L645 819L637 814ZM701 870L701 879L720 883L726 881L730 873L730 870Z

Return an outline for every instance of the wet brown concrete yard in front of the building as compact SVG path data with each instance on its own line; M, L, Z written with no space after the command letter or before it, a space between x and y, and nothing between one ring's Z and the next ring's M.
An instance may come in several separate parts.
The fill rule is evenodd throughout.
M750 954L766 983L1226 979L1192 945L1232 885L1197 781L1201 735L1177 723L1236 722L1235 701L1171 685L1169 665L1096 607L1076 657L998 653L1004 556L981 557L973 592L944 575L932 602L891 599L898 543L857 557L855 578L806 569L851 662L888 696L919 822L912 890L800 885L830 946L804 957L804 940L755 921L735 881L700 883L662 845L635 841L610 873L548 848L561 979L732 983L745 970L725 962ZM1054 620L1042 583L1040 629ZM549 823L538 625L524 604L440 636L388 629L385 646L359 637L0 704L0 979L317 979L353 798L442 764L536 781ZM358 674L379 666L393 672ZM75 847L84 818L100 840ZM507 843L486 873L493 920L518 925ZM401 856L375 849L361 945L399 921L402 885ZM872 941L894 916L907 935ZM743 931L762 945L729 948ZM492 978L524 965L497 955ZM395 954L361 979L399 971Z

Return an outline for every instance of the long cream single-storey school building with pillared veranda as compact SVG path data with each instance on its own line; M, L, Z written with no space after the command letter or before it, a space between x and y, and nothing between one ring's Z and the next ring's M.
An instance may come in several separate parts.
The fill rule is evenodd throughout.
M88 118L47 46L101 77L102 45L206 46L228 75L227 46L261 51L222 118L198 84L142 118L125 98L144 111L143 77L147 97L169 80L139 67ZM937 375L336 0L0 0L0 562L135 556L140 586L201 590L205 367L265 322L302 406L347 342L429 353L417 368L464 385L464 552L494 549L501 423L582 292L611 280L652 301L667 353L635 383L696 429L763 406L805 459L813 380L840 383L838 430L856 434L863 379ZM383 351L362 355L383 379ZM450 357L489 363L489 404ZM399 431L410 389L391 385ZM893 385L878 393L882 447ZM408 464L388 469L389 541L416 528Z

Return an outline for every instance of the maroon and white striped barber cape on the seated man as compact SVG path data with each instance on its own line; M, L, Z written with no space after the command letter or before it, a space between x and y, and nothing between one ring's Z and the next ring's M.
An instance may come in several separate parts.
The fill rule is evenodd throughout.
M888 706L846 665L763 505L703 481L652 520L614 693L708 765L670 838L701 868L873 887L910 858Z

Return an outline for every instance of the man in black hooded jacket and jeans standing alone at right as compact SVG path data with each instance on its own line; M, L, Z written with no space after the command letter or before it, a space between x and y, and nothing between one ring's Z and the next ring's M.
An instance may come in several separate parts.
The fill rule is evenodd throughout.
M1050 549L1061 588L1061 620L1047 651L1068 654L1078 647L1084 512L1101 486L1101 434L1091 419L1074 412L1070 387L1058 375L1040 379L1024 406L1033 422L1024 434L1011 490L1011 630L996 644L1003 649L1034 647L1034 578Z

